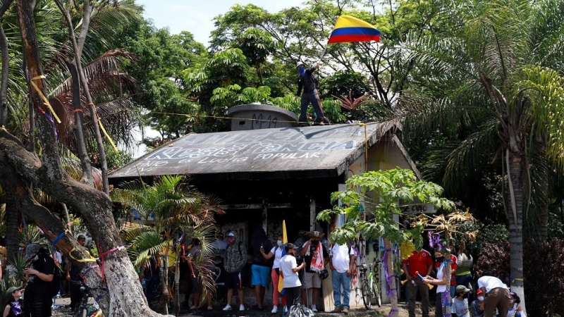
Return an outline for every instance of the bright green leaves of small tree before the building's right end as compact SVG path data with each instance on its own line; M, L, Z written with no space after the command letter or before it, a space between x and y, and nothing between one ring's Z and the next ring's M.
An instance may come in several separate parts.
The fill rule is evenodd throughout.
M321 211L318 220L329 221L338 214L344 214L347 223L331 233L331 242L343 244L359 233L367 239L384 236L390 242L407 242L421 236L422 225L410 230L401 228L393 220L400 214L398 201L410 204L415 199L422 203L434 204L439 209L454 208L452 201L439 197L442 188L431 182L417 180L411 170L394 168L353 175L346 181L347 190L331 194L331 201L340 204L333 209ZM414 240L421 247L421 240Z

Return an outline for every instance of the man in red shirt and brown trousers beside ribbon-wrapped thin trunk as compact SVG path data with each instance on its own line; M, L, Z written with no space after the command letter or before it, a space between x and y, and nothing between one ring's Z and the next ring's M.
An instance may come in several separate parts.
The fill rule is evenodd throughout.
M427 276L433 268L433 259L429 251L421 249L413 251L407 260L403 260L403 271L407 278L407 301L410 317L415 317L415 297L421 294L423 317L429 317L429 287L419 278L417 273Z

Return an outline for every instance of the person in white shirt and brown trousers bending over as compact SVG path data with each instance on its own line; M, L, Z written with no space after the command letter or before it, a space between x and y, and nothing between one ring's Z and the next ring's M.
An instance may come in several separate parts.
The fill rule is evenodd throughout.
M498 309L499 316L507 316L511 297L508 287L500 279L491 276L489 272L484 272L478 279L478 288L486 294L484 317L496 316L496 309Z

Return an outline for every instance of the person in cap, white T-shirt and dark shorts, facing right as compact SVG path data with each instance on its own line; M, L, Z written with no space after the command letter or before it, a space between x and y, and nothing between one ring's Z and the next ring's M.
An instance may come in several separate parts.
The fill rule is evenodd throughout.
M298 266L295 260L297 249L298 247L295 244L286 244L286 255L280 259L280 271L284 277L282 285L284 292L286 292L286 308L288 310L290 310L290 306L300 304L300 297L302 295L302 282L300 282L298 271L305 268L305 262Z

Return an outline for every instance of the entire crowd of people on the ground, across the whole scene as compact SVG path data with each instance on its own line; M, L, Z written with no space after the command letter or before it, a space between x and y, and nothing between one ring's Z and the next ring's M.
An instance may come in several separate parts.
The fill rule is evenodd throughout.
M334 226L329 228L329 231L332 229ZM78 242L85 247L85 236L79 235ZM322 280L331 274L335 304L335 309L331 312L349 313L351 278L356 256L355 249L350 245L329 245L323 232L303 230L298 232L293 243L284 244L283 237L279 235L273 244L266 232L257 228L252 235L249 249L235 231L228 231L225 240L219 233L217 239L212 242L212 247L215 251L214 264L218 270L210 268L209 271L221 275L215 276L216 285L225 285L226 303L223 311L231 311L235 307L240 311L246 310L243 289L249 284L254 289L254 309L258 311L264 310L270 304L271 313L277 313L281 304L285 304L282 308L285 311L288 311L290 306L302 304L317 312L316 304L321 294ZM188 256L196 258L201 252L200 240L192 240L188 247ZM422 301L422 316L429 316L429 290L432 287L436 287L435 316L443 316L446 306L450 306L450 312L455 317L526 317L520 306L520 298L510 292L502 280L489 272L482 273L477 279L473 278L474 259L469 252L462 250L458 256L450 254L448 259L445 257L446 253L450 254L450 250L438 248L431 256L431 252L420 249L413 251L403 261L410 317L415 317L417 294ZM6 291L7 301L4 303L2 317L51 316L53 302L51 292L46 290L54 279L56 269L59 269L56 267L61 267L63 280L66 277L69 281L85 281L72 261L63 263L55 254L50 254L47 247L28 244L24 254L25 285L16 285ZM446 275L448 263L451 268L449 285ZM159 288L159 264L157 257L140 269L140 280L149 304L152 303L154 291ZM326 268L329 268L329 272ZM0 274L1 272L0 270ZM173 272L171 268L170 275L173 276ZM203 287L198 269L189 266L184 275L190 283L185 304L190 302L192 295L190 309L200 309L201 304L207 304L208 310L214 309L211 293L207 294L205 301L201 298ZM169 280L169 286L172 284L173 278ZM70 285L67 288L71 295L71 309L75 309L80 303L81 294L78 287L73 286L78 283ZM61 285L57 287L61 289ZM272 290L271 303L265 303L267 289ZM282 289L284 296L281 294ZM218 292L220 291L218 289ZM446 301L446 294L450 294L450 302ZM235 295L238 306L233 306ZM283 302L283 298L286 302Z

